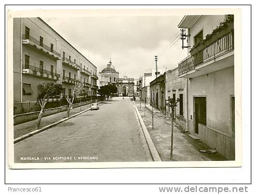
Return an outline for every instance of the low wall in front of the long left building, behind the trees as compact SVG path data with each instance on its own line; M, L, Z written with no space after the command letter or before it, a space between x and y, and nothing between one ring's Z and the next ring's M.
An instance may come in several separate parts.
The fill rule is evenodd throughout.
M89 105L91 102L93 103L95 101L96 100L76 103L72 107L77 108L77 107ZM52 109L45 109L45 111L43 113L43 117L49 116L49 115L52 115L52 114L56 114L56 113L59 113L59 112L63 112L63 111L66 111L66 110L68 110L67 105L62 106L62 107L52 108ZM17 115L14 116L14 125L19 125L19 124L22 124L22 123L26 123L26 122L29 122L29 121L36 120L38 118L39 113L40 113L40 111L29 112L29 113L24 113L24 114L17 114Z

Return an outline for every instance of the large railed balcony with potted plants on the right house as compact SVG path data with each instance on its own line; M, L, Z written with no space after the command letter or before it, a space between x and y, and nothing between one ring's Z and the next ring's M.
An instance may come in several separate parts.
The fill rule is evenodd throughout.
M234 33L228 32L221 38L215 36L210 41L193 49L192 55L179 63L179 77L193 78L234 66Z

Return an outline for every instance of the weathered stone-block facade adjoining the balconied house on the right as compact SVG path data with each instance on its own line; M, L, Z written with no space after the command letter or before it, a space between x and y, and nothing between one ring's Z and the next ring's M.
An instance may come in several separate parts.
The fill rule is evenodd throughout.
M174 118L176 122L184 129L187 129L187 97L186 97L186 78L179 78L179 68L166 71L166 99L174 98L179 102L174 108ZM166 107L166 116L171 118L171 108Z

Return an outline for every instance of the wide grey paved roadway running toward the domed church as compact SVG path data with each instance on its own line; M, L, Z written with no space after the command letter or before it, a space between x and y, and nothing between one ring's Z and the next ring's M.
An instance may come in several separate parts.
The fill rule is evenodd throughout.
M152 161L128 98L71 118L16 143L14 149L15 162Z

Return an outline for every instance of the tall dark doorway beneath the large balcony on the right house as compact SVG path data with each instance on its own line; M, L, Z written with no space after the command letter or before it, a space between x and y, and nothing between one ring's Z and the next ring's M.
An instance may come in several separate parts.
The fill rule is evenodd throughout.
M195 133L198 134L198 124L206 125L206 97L195 99Z

